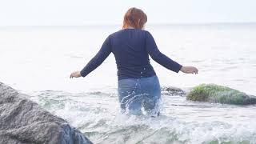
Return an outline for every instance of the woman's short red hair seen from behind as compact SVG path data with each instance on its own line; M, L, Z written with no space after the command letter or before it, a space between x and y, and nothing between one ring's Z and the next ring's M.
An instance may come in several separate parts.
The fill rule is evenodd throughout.
M123 18L122 29L126 29L128 26L132 26L135 29L142 29L146 21L146 14L142 10L132 7L127 10Z

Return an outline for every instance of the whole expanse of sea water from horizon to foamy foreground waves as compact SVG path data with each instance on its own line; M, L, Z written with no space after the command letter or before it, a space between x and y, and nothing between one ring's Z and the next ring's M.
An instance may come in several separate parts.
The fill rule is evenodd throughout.
M158 118L119 113L117 69L110 56L86 78L70 79L121 26L0 28L0 81L29 94L94 143L256 143L256 106L188 102L162 91ZM201 83L256 95L256 24L146 26L158 49L198 74L178 74L151 60L161 86Z

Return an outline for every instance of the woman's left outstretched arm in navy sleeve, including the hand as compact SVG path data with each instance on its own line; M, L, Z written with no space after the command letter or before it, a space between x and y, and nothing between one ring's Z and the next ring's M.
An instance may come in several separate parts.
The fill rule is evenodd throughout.
M110 36L106 38L105 42L103 42L101 49L98 53L87 63L87 65L81 71L74 71L70 74L70 78L78 78L78 77L86 77L86 75L90 74L93 70L95 70L98 66L104 62L104 60L111 53L111 43Z

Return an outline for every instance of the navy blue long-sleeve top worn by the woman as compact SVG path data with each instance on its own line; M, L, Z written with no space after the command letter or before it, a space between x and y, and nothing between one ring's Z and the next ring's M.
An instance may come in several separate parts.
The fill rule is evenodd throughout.
M182 68L158 50L150 32L141 29L123 29L110 34L103 42L98 54L81 70L86 77L110 55L114 54L118 67L118 80L126 78L145 78L155 75L150 58L169 70L177 72Z

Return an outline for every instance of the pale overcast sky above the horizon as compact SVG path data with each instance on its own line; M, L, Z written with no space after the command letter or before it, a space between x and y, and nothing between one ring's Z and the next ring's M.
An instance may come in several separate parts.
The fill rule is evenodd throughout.
M0 26L120 24L133 6L150 24L256 22L255 0L0 0Z

